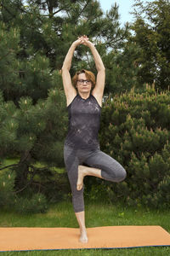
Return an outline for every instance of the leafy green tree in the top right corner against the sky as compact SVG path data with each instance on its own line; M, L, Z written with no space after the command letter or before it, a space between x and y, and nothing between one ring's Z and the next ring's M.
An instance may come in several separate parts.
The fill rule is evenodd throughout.
M136 1L133 5L132 40L138 45L139 84L156 83L166 90L169 86L170 3L167 0Z

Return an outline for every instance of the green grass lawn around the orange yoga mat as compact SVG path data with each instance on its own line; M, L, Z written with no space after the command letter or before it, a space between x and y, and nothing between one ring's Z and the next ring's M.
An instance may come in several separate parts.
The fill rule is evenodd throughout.
M133 209L122 206L113 206L105 203L92 203L86 201L87 227L109 225L161 225L170 232L168 211L149 211L144 208ZM0 211L1 227L72 227L78 228L71 202L66 201L51 206L47 213L18 214L15 212ZM52 255L170 255L170 247L140 247L127 249L83 249L59 251L30 251L7 252L0 255L23 256L52 256Z

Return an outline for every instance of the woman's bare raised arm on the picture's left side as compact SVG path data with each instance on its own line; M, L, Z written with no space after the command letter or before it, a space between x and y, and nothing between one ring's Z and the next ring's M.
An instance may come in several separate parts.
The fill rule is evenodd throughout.
M70 69L71 69L72 56L74 54L75 49L77 48L77 45L79 44L82 44L82 38L78 38L77 41L71 44L71 47L68 50L67 55L65 56L63 67L61 69L67 106L72 102L74 97L77 96L77 90L74 88L74 86L71 83Z

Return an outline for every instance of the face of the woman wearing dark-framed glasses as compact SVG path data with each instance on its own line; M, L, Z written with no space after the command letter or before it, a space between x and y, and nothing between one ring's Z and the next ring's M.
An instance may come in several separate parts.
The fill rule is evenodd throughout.
M92 89L92 82L87 79L85 73L80 73L77 79L77 90L81 93L88 93Z

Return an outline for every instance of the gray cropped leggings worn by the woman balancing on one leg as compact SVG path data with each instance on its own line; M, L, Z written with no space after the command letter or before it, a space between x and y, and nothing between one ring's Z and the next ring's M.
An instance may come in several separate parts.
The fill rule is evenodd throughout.
M124 168L111 156L96 149L71 148L65 145L65 167L71 183L72 203L75 212L84 211L83 190L77 190L78 166L87 165L101 170L105 180L119 183L127 176Z

